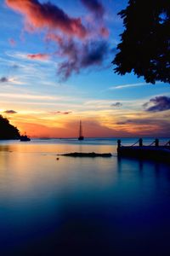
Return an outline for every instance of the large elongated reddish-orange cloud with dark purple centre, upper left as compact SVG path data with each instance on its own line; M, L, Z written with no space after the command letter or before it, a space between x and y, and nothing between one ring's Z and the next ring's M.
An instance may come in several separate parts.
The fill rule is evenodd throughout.
M69 36L87 36L87 29L80 18L71 18L52 3L39 3L37 0L6 0L5 3L25 16L28 29L58 29Z

